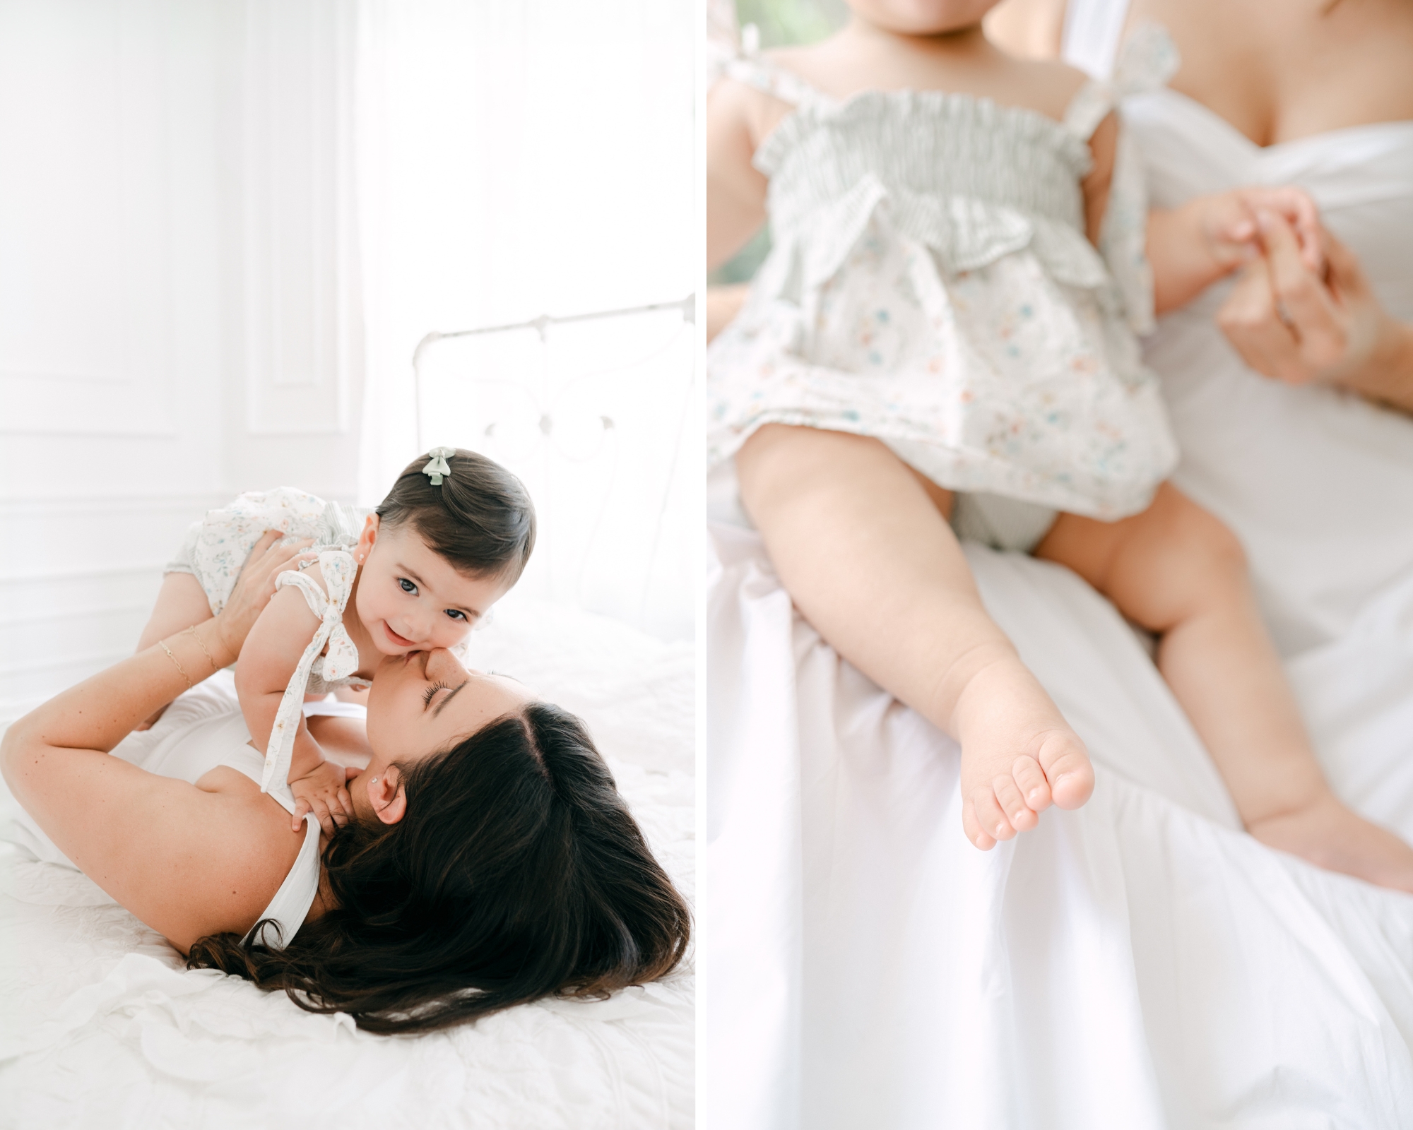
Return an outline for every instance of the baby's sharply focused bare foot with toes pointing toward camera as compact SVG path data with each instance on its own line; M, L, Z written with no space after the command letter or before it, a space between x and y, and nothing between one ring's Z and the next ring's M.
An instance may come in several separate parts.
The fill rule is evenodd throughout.
M1084 742L1019 658L976 672L957 719L962 826L983 852L1034 828L1051 804L1078 808L1094 792Z

